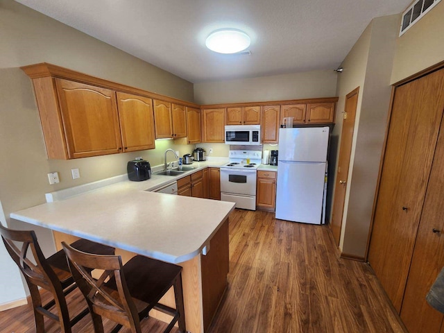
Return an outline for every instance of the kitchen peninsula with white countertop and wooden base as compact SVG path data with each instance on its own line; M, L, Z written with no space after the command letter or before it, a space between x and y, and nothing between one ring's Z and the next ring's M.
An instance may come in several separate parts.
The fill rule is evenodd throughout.
M153 181L159 185L167 178ZM204 332L227 285L228 216L234 203L154 193L146 191L153 182L148 184L120 181L10 217L62 232L56 243L74 235L123 250L116 251L123 261L137 253L179 264L187 330ZM172 291L164 302L173 302ZM162 314L152 316L162 319Z

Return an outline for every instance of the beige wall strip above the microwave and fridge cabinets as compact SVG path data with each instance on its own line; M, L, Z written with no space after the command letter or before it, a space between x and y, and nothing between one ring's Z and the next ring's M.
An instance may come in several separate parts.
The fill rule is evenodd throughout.
M335 94L336 73L333 69L194 85L194 100L203 105L310 99Z

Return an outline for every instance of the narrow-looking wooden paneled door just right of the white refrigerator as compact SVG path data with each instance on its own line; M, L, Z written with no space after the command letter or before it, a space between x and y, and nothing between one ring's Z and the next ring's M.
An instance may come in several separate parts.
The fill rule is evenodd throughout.
M341 145L339 147L339 162L334 182L334 197L332 221L330 227L336 245L339 246L341 238L342 216L345 202L345 191L347 189L348 167L350 166L350 155L352 153L353 132L355 130L355 116L358 103L359 87L345 96L344 119L342 123Z

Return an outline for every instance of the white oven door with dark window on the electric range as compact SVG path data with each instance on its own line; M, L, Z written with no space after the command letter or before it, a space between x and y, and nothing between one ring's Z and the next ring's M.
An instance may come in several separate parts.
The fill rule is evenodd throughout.
M221 168L221 192L256 195L256 170Z

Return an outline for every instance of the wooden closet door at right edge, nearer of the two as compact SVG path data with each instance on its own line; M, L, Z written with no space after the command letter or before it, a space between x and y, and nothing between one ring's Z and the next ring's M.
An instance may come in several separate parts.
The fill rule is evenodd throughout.
M442 106L444 108L444 105ZM425 300L436 276L444 267L443 165L444 126L441 125L407 287L402 300L401 319L411 333L440 332L444 317Z

